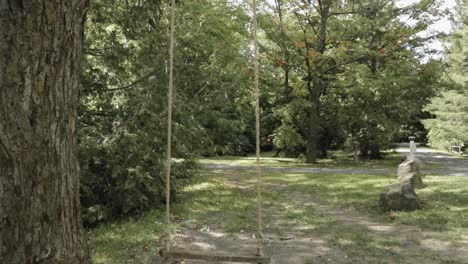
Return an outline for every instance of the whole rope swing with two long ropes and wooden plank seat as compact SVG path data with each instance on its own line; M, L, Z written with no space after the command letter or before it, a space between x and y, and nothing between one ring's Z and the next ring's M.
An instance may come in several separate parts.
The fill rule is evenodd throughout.
M250 263L270 263L270 258L263 256L262 241L262 203L261 203L261 171L260 171L260 100L259 100L259 63L257 44L257 2L253 0L253 60L254 60L254 93L255 93L255 130L256 130L256 160L257 160L257 254L256 256L238 256L208 254L183 250L171 251L170 225L171 225L171 143L172 143L172 108L173 108L173 72L174 72L174 33L175 33L175 0L171 0L170 11L170 43L169 43L169 84L167 96L167 149L166 149L166 228L165 228L165 250L160 254L163 258L171 259L200 259L205 261L228 261L228 262L250 262Z

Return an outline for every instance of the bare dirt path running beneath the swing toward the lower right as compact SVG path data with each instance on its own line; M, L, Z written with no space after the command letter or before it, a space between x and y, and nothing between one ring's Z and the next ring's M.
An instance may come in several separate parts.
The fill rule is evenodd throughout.
M241 177L226 181L248 185ZM264 208L265 217L271 219L264 230L264 252L272 258L272 263L468 263L466 236L454 242L441 233L392 224L376 216L321 202L313 194L290 191L280 183L270 184L269 188L275 188L289 198ZM288 217L287 212L291 210L315 211L311 217L313 222L324 224L321 227ZM196 223L186 223L176 234L174 245L198 252L249 256L256 252L256 239L251 233L227 234L216 229L199 230L195 226Z

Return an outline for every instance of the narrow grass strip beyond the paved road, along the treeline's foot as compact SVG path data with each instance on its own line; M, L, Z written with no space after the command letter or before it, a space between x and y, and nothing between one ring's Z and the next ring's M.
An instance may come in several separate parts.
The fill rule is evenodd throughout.
M385 152L384 158L380 160L360 159L355 163L350 153L342 151L330 152L330 158L319 159L317 164L307 164L300 158L280 158L273 157L273 152L262 153L260 163L265 167L314 167L314 168L366 168L366 169L395 169L401 163L403 155L397 152ZM241 156L219 156L200 159L201 164L219 164L227 166L255 166L256 157L253 155L247 157ZM425 168L439 169L444 166L427 163Z

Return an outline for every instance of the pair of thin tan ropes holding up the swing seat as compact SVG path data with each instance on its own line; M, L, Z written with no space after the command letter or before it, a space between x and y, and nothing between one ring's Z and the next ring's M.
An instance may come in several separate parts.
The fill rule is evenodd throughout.
M256 167L257 167L257 256L263 256L262 242L262 193L260 170L260 100L259 100L259 63L258 63L258 39L257 39L257 1L253 0L253 46L254 46L254 93L255 93L255 133L256 133ZM167 96L167 148L166 148L166 228L165 248L170 251L170 225L171 225L171 143L172 143L172 108L173 108L173 81L174 81L174 33L175 33L175 0L171 0L170 10L170 43L169 43L169 85Z

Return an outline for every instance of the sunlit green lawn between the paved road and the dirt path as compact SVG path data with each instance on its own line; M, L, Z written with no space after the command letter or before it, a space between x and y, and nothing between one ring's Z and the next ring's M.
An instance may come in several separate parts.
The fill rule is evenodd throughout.
M394 175L339 175L268 172L265 184L281 183L284 188L266 186L264 206L268 208L287 201L290 192L309 194L314 200L352 207L374 215L382 215L377 200L382 189L396 181ZM194 221L208 220L223 229L238 232L255 227L255 173L205 171L200 182L188 187L178 204L177 213L189 212ZM242 182L242 185L238 183ZM418 190L424 210L397 212L396 222L416 225L425 230L468 228L468 178L426 176L427 187ZM211 184L210 188L208 187ZM198 186L198 187L197 187ZM198 188L205 186L204 191ZM204 210L197 208L204 206ZM383 216L386 216L383 214Z

